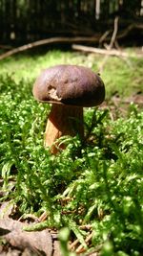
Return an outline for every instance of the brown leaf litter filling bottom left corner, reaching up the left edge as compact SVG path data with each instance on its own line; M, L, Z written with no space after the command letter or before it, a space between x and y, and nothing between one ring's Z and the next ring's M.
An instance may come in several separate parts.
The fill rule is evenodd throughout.
M24 230L31 223L12 220L12 209L10 202L3 203L0 208L0 255L60 255L56 233L48 228L31 232Z

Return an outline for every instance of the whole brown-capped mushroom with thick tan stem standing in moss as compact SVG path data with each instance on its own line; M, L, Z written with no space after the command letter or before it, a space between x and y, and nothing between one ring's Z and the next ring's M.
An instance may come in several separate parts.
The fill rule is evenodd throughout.
M51 104L45 131L45 147L58 151L55 141L77 133L84 138L83 107L100 105L105 98L101 78L91 69L77 65L57 65L42 71L33 85L34 98ZM64 149L64 144L58 146Z

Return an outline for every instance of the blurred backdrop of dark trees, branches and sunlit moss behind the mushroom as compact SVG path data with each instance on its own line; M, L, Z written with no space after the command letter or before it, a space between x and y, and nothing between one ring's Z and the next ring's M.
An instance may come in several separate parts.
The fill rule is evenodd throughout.
M143 0L0 0L0 74L18 81L32 84L59 63L84 65L101 75L107 99L132 95L138 104L142 38Z

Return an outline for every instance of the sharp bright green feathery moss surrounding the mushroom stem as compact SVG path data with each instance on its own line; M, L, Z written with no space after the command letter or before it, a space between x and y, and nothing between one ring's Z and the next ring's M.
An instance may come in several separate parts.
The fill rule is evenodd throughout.
M112 120L107 108L85 109L86 139L64 137L67 148L43 147L50 105L38 104L31 83L0 77L0 201L18 215L47 212L47 226L67 226L71 239L101 255L142 255L143 112L130 105ZM33 227L34 228L34 227Z

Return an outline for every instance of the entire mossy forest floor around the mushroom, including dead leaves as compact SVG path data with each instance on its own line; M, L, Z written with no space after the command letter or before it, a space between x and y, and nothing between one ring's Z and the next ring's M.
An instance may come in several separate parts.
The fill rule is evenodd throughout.
M127 51L132 50L130 49ZM49 108L40 105L41 108L38 110L39 113L36 113L37 104L32 100L31 87L41 69L59 63L85 65L92 68L95 72L100 71L100 75L106 85L106 99L95 112L96 121L94 125L96 128L92 129L92 133L88 141L89 144L86 146L87 148L85 151L81 151L81 154L79 153L78 156L77 151L80 146L76 146L79 144L77 138L73 142L70 141L72 150L69 147L67 152L62 152L61 155L59 154L56 157L56 159L52 159L53 157L50 154L48 155L48 160L45 162L45 165L49 166L50 172L53 171L52 168L55 168L55 178L53 178L52 174L50 174L50 176L44 174L45 167L39 163L46 161L44 156L40 153L40 151L45 153L42 149L43 146L40 146L43 140L43 133L41 130L45 125L45 118L41 117L41 115L46 115L46 111L49 110ZM129 157L132 162L133 155L135 155L135 151L137 151L137 149L138 155L141 155L142 152L140 148L142 146L141 141L138 142L140 139L141 128L143 127L142 68L142 58L110 57L105 61L104 57L101 57L100 55L81 54L78 52L64 53L61 51L51 51L39 56L18 55L1 61L0 90L2 94L0 99L0 121L2 125L2 139L0 150L2 152L2 158L0 160L0 255L141 256L142 245L139 241L139 232L141 231L136 231L137 228L140 228L141 224L136 221L137 217L133 215L133 212L134 209L136 209L134 207L136 207L137 203L140 203L139 209L142 207L142 198L140 198L142 189L139 183L133 183L135 186L138 184L138 191L136 189L136 198L134 199L132 191L133 184L131 185L130 183L132 181L128 183L125 182L125 180L129 170L132 170L129 171L131 172L131 179L134 175L136 180L141 180L142 178L141 172L139 171L138 175L140 176L137 176L135 169L132 169L134 168L133 163L131 163L131 166L129 167L130 160L129 162L127 160ZM29 99L30 102L28 103ZM14 112L15 109L17 109L16 113ZM99 112L100 110L101 112ZM85 122L87 122L87 126L90 126L91 122L93 122L93 115L93 110L86 111ZM33 127L34 125L30 126L29 124L26 124L25 119L29 120L30 123L32 120L38 120L38 125L40 122L42 125L40 125L39 130L37 130L38 125L35 125L35 127ZM140 126L140 128L137 129L138 134L135 130L137 124L139 124L138 127ZM10 142L8 138L9 132L6 131L9 128L11 128L11 132L13 132L12 142ZM37 134L36 142L35 138L32 138L33 134L31 134L33 129ZM29 136L27 135L28 130L31 130L30 137L33 141L29 141ZM129 133L131 132L131 134L129 134L129 136L127 134L125 135L126 131L129 131ZM106 132L106 134L104 134L104 132ZM96 139L94 139L94 137ZM27 142L30 145L27 145ZM136 146L133 146L133 143L136 143ZM109 145L108 148L107 144ZM114 144L113 147L112 144ZM115 147L118 147L118 149ZM135 150L133 147L136 147ZM96 149L98 149L98 152ZM36 153L35 156L34 153ZM124 154L126 153L127 158L126 156L124 158ZM106 175L112 177L112 180L115 176L117 181L112 181L114 183L107 183L105 187L102 187L103 173L98 170L98 167L96 167L98 175L94 177L96 182L92 180L93 169L95 168L92 167L92 165L98 166L94 160L94 162L92 162L92 157L95 156L99 162L102 162L103 160L108 162L106 167L101 163L100 169L104 173L107 168ZM38 157L39 160L37 159ZM20 161L17 160L17 158L19 158ZM27 161L25 161L26 159L29 159L28 167ZM73 164L70 165L69 161L73 161ZM126 167L127 162L128 166ZM122 164L124 165L124 168L122 171L123 175L121 176L120 173L118 173L120 172L118 170ZM83 166L83 171L80 169L81 165L85 166ZM141 165L142 163L139 162L139 158L136 158L136 168L138 170L140 170ZM47 184L46 186L49 186L49 190L51 190L50 193L45 185L42 187L36 183L36 176L29 174L31 172L30 167L31 170L32 168L33 170L36 168L36 170L43 172L44 175L39 177L39 180L41 180L39 182L41 182L42 185ZM71 172L71 178L67 175L67 168L69 168ZM117 172L116 175L112 175L113 168ZM75 172L75 169L77 173ZM91 172L91 174L89 173L84 176L82 175L82 172L85 172L85 174L86 172ZM37 175L39 174L37 173ZM90 175L91 179L89 177ZM107 182L106 175L104 177L105 183ZM79 180L78 177L80 177ZM48 184L48 178L51 180L51 184ZM65 182L62 183L62 185L61 178L65 179ZM133 180L133 182L138 181ZM119 185L120 183L121 185ZM95 184L97 184L97 188L95 187ZM132 187L129 193L127 191L128 184ZM55 188L51 186L55 186ZM62 188L60 186L62 186ZM81 186L83 186L82 189L80 188ZM90 188L92 194L95 191L94 195L97 197L96 200L92 194L88 194L89 192L87 192L86 186ZM118 191L116 190L116 186L119 186ZM74 190L74 187L78 188L77 191ZM109 187L111 189L110 192L108 191ZM122 190L123 187L124 190ZM105 191L105 194L109 193L108 197L105 198L104 195L102 198L100 195L102 194L100 193L101 191ZM51 198L42 196L45 192L50 195L48 197ZM85 198L84 194L86 194ZM118 207L117 210L113 208L113 195L116 197L113 203L117 205L115 206ZM125 205L121 205L121 207L118 205L118 201L121 197L123 197L123 200L125 200L126 204L129 205L128 209L124 209ZM130 201L132 198L133 201ZM33 199L35 202L33 202ZM51 204L55 203L54 207L51 207L50 201ZM77 210L78 205L80 211L79 209ZM49 214L46 214L46 216L44 215L45 212L49 213L51 211L53 211L52 216L48 217ZM121 211L124 212L124 214L122 213L123 216L120 213ZM114 213L113 217L112 212ZM130 222L130 213L132 214L135 222L134 226L133 222ZM97 221L94 220L92 214L94 214ZM138 215L139 214L142 215L141 210L138 210ZM123 240L125 239L126 241L127 239L129 242L127 234L128 232L131 234L130 239L132 245L129 242L129 247L125 248L125 251L124 244L122 244L120 237L118 237L118 234L116 234L115 231L112 231L111 237L109 235L110 232L108 235L106 234L108 228L109 230L111 228L111 224L108 222L109 217L112 221L112 230L113 227L117 230L117 220L123 221L122 224L124 225L124 228L121 228L121 230L119 229L118 231L121 232L122 236L124 235ZM70 222L71 219L72 222ZM47 220L50 221L46 222ZM53 225L53 221L56 223L55 226ZM124 221L127 223L125 224ZM39 228L36 226L38 223L43 223L44 225L40 225ZM70 227L69 229L72 232L71 236L68 233L69 229L66 229L68 227L68 223ZM72 224L74 226L74 223L77 225L76 228L71 226ZM33 229L31 228L32 224L35 225ZM102 226L100 226L101 224L105 224L103 230ZM27 230L27 225L30 225L29 232ZM62 228L63 226L66 226L65 229ZM130 228L128 229L127 226L130 226ZM95 237L94 233L96 230L100 229L99 227L101 230L98 231L99 234ZM106 232L105 229L107 229ZM60 234L58 234L57 230L60 230ZM101 238L102 236L103 239ZM105 236L106 239L104 240ZM58 240L60 241L61 249L59 247ZM130 248L130 246L133 246L134 242L138 243L138 247ZM96 246L94 244L96 244ZM71 251L69 248L71 248ZM86 251L87 248L88 250Z

